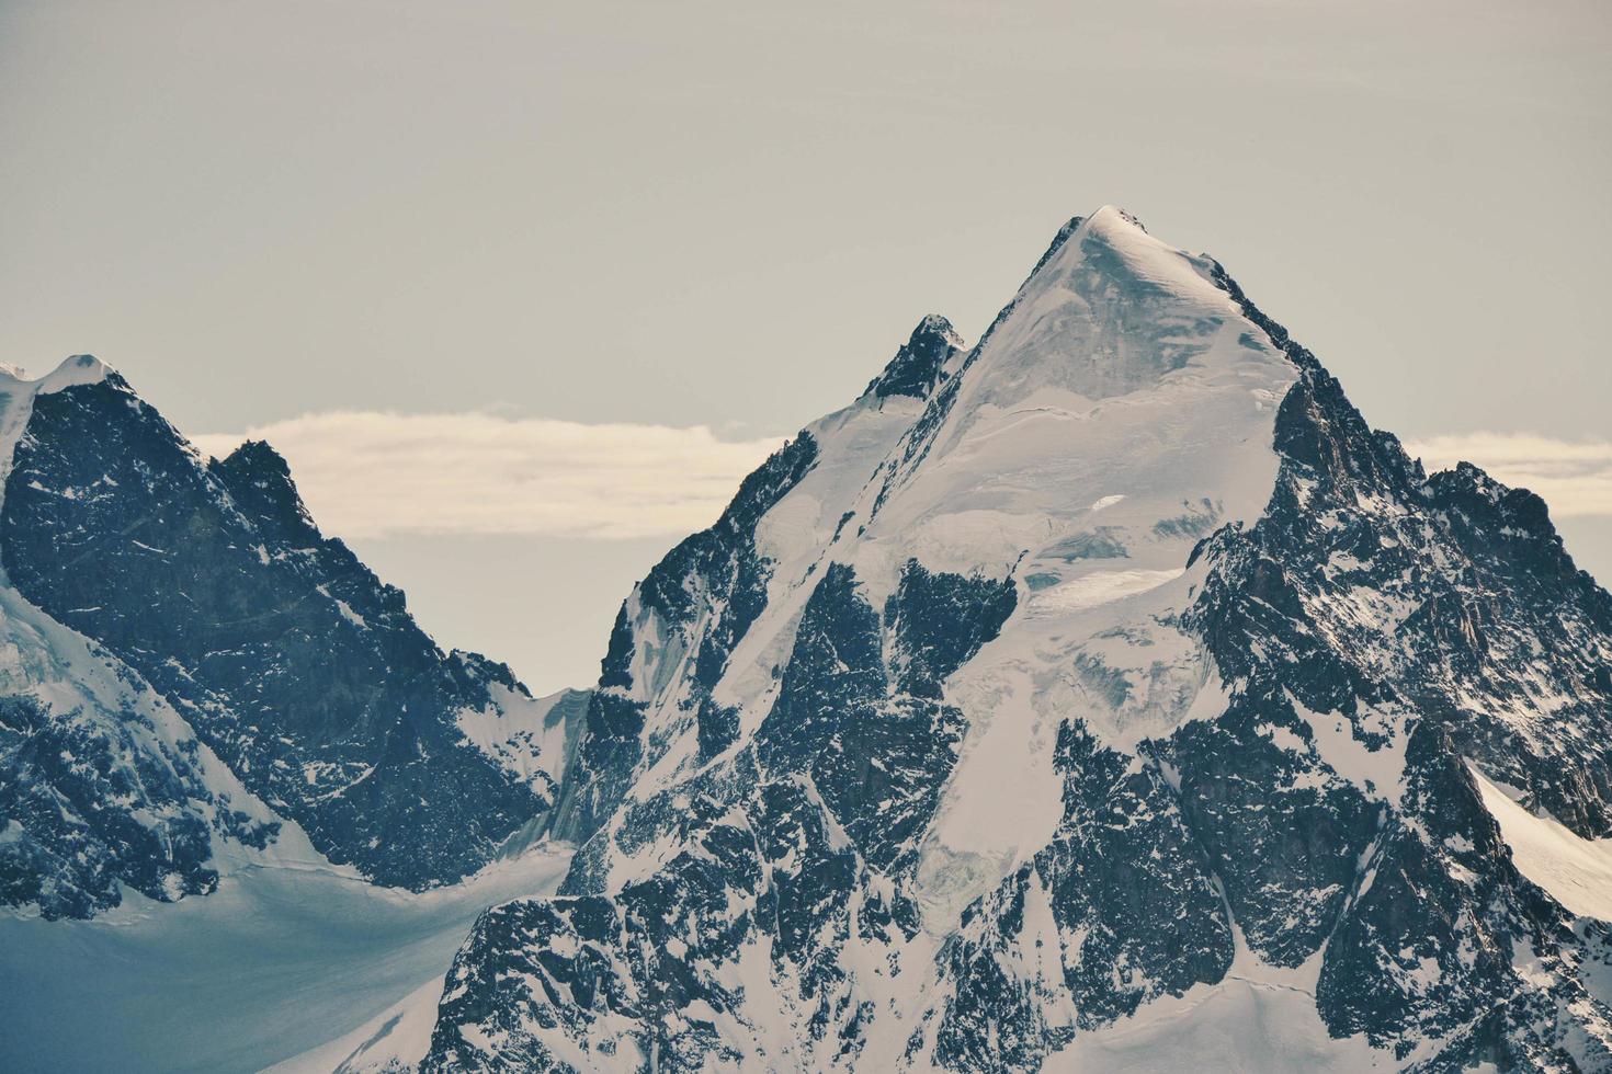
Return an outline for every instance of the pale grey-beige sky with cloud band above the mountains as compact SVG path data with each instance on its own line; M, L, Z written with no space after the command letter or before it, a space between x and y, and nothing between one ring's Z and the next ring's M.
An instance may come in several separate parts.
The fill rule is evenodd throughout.
M1612 5L0 0L0 361L266 436L445 646L627 589L1104 203L1612 580Z

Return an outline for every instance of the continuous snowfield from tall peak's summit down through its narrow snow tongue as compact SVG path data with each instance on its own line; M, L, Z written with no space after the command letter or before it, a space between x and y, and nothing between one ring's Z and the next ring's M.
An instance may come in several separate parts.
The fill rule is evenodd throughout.
M1117 209L1090 217L1025 282L846 554L875 605L909 556L1037 576L948 684L969 731L919 868L929 927L1051 837L1059 720L1133 749L1224 710L1194 707L1224 692L1169 623L1201 581L1185 572L1198 539L1270 501L1270 403L1294 372L1207 272Z

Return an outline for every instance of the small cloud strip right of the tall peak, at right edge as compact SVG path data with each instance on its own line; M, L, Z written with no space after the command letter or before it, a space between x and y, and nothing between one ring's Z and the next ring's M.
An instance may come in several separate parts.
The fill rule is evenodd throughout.
M1483 467L1512 488L1544 498L1557 518L1612 515L1612 441L1573 441L1531 433L1464 433L1406 441L1428 470L1457 462Z

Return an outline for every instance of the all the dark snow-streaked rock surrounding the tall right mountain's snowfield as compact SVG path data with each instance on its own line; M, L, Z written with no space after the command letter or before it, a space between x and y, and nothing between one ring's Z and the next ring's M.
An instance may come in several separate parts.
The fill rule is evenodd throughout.
M1517 870L1473 775L1609 834L1612 597L1538 498L1465 465L1425 475L1209 266L1248 345L1296 372L1264 514L1227 523L1190 499L1154 527L1201 536L1193 589L1161 626L1198 647L1212 704L1132 746L1093 712L1059 712L1051 839L932 934L917 865L972 733L945 684L1059 580L1020 591L1011 573L911 560L875 601L825 554L758 688L759 723L701 715L687 776L600 799L563 897L482 918L427 1069L1037 1069L1243 965L1307 982L1294 995L1322 1039L1383 1066L1612 1069L1606 926ZM961 372L917 377L927 406L867 478L875 514L929 459L978 354L937 364L912 346L870 391L909 367ZM851 514L830 547L854 539ZM1119 535L1066 531L1051 552L1125 568ZM601 681L638 721L598 699L590 721L638 773L675 736L645 728L642 699L682 689L693 713L721 678L640 681L669 667L635 660L645 639L693 651L717 618L721 601L688 613L679 594L740 575L685 562L617 622ZM682 633L646 630L643 607ZM724 662L758 615L717 634ZM1078 680L1093 708L1140 686L1085 654L1045 671Z

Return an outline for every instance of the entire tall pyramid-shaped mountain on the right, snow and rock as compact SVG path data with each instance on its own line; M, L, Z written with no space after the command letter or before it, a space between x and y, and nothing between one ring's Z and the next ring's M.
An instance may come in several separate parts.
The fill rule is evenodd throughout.
M1612 1069L1609 725L1544 504L1104 208L634 588L422 1069Z

